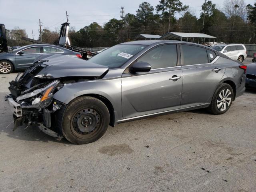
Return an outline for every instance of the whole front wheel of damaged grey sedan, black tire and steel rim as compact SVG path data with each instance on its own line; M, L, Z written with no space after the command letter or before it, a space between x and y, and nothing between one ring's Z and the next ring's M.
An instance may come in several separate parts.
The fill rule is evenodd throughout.
M62 123L57 125L69 142L86 144L101 138L109 122L110 114L106 105L97 98L83 96L75 98L66 106Z

